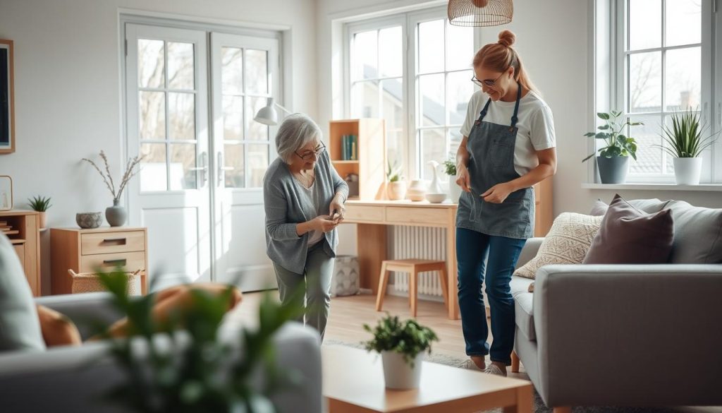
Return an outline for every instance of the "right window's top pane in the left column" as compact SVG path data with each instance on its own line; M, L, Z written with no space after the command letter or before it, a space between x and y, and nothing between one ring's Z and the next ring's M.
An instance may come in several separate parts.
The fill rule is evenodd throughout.
M662 0L629 0L630 50L662 46Z

